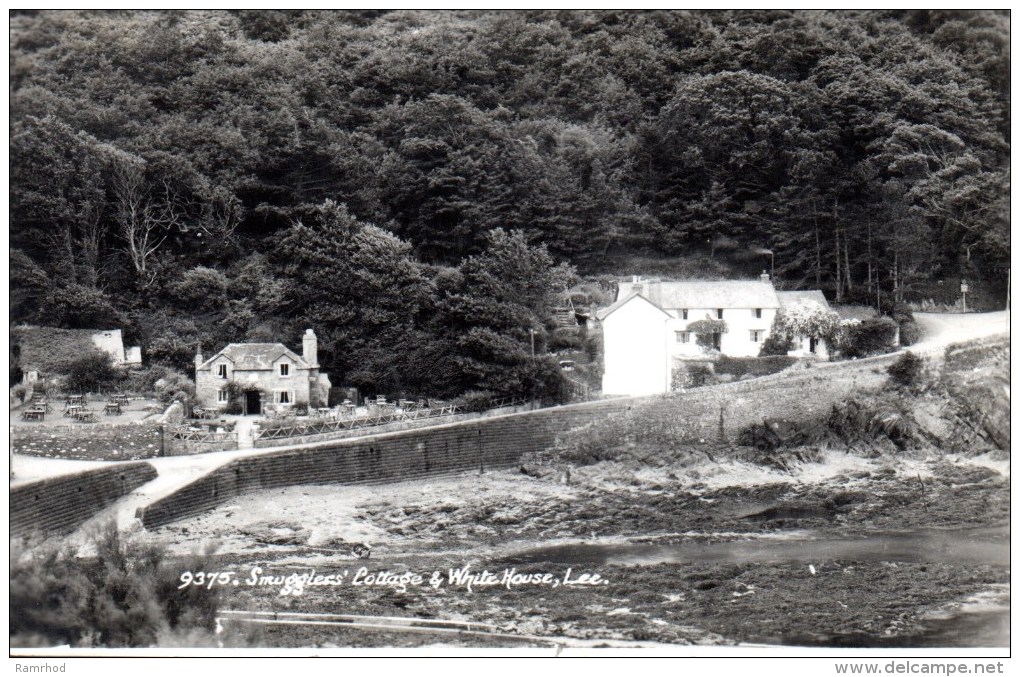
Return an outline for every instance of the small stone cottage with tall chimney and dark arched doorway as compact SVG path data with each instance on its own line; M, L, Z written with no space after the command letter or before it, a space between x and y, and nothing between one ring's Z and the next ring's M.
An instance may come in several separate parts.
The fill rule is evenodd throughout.
M195 356L195 389L203 407L261 414L275 407L326 405L329 378L319 373L318 341L311 329L302 336L302 354L283 344L230 344L209 359Z

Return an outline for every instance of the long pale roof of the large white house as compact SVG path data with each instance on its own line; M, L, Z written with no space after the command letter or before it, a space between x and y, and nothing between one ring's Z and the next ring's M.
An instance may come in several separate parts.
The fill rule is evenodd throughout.
M618 299L641 293L666 310L681 308L778 308L771 282L760 279L682 279L620 282Z

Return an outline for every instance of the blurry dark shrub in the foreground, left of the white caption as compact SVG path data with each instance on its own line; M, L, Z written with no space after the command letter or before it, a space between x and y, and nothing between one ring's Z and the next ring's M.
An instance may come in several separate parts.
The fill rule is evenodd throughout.
M184 571L215 571L212 553L182 560L124 541L113 523L93 535L95 557L51 542L11 540L13 646L153 646L196 630L213 643L219 590L181 585Z

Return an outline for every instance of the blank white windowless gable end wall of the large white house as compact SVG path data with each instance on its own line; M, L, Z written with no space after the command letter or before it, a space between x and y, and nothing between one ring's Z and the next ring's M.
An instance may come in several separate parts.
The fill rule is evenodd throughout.
M650 302L634 297L603 320L603 395L668 392L667 319Z

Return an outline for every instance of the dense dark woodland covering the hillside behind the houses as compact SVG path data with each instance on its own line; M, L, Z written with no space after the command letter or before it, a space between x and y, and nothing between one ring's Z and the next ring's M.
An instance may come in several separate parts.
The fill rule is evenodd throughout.
M1005 296L1009 29L16 11L12 319L117 322L183 367L310 323L340 380L449 394L536 386L522 351L550 301L515 284L564 283L558 263L768 252L782 284L836 300L959 277Z

